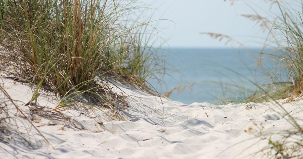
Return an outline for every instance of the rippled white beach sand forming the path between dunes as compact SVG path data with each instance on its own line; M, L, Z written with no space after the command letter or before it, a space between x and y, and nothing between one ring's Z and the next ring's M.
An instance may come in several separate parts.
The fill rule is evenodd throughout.
M29 112L29 107L23 106L32 94L28 85L4 78L0 81L20 108ZM25 119L14 117L16 122L10 124L17 124L33 147L11 134L5 139L10 144L0 142L0 158L267 158L262 153L255 154L268 145L268 140L255 137L260 124L264 126L261 128L264 134L292 128L285 120L288 116L275 112L279 109L270 102L250 103L253 109L246 109L244 104L187 105L162 98L162 105L159 97L125 86L123 91L132 95L128 98L129 108L124 112L126 121L111 121L101 111L93 114L85 110L62 111L71 121L37 117L33 123L55 149L34 128L25 131L25 127L30 127ZM39 106L54 108L57 103L49 94L39 96ZM291 116L302 118L302 104L302 100L296 100L283 107ZM15 112L10 110L11 115ZM97 115L104 126L86 115ZM84 129L74 128L74 123ZM249 127L253 128L252 132L245 132ZM279 135L272 137L273 140L280 138Z

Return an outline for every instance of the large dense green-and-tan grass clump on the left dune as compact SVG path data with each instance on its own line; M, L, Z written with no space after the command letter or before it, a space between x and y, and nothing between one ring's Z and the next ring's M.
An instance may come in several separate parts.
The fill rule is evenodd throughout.
M7 61L2 65L9 64L12 73L37 85L30 103L43 86L66 100L89 93L114 105L116 94L96 78L126 81L153 92L146 81L162 69L145 41L152 34L146 31L151 22L136 22L131 14L138 8L133 4L136 2L1 0L0 42L5 50L1 58Z

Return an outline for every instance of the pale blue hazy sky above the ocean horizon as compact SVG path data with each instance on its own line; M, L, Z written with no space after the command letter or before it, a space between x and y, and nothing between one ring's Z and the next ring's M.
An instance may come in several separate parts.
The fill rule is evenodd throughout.
M224 0L141 0L153 8L153 19L169 19L161 21L158 25L159 36L169 39L171 47L230 47L225 42L211 39L200 32L216 32L230 35L238 41L245 42L246 46L262 47L259 38L265 38L255 22L240 16L241 14L254 14L253 8L260 15L269 15L270 4L264 0L239 0L231 5ZM276 10L277 11L277 10ZM275 11L274 11L275 12ZM255 37L255 38L253 38ZM258 37L258 38L257 38Z

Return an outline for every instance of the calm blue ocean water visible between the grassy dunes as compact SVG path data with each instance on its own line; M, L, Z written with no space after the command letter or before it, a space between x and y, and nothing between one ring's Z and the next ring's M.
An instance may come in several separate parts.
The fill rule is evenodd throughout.
M264 72L273 66L270 57L262 57L262 65L258 65L261 51L261 48L164 48L160 52L168 64L167 75L162 83L154 80L150 83L161 93L175 88L169 98L185 104L219 104L248 97L257 89L251 81L268 82Z

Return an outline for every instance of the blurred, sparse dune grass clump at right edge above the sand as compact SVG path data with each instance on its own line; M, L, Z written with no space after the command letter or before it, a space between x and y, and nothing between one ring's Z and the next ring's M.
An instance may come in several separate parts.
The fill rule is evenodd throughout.
M285 2L280 0L268 1L272 8L278 10L271 16L242 15L257 22L267 32L264 48L259 54L258 67L264 68L262 59L272 58L275 63L265 73L270 77L270 84L263 84L266 92L275 99L295 98L303 92L303 57L302 57L302 1ZM262 42L263 43L263 42ZM271 48L270 52L263 52ZM264 69L265 70L265 69ZM266 94L263 97L266 97ZM269 99L269 98L265 98Z

